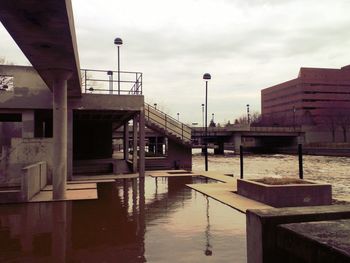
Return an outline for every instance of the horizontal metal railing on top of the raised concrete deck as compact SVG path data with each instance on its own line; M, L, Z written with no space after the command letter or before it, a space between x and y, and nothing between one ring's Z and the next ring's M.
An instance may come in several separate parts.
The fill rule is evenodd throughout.
M116 77L114 77L116 76ZM112 70L81 70L84 93L112 95L142 95L142 73Z

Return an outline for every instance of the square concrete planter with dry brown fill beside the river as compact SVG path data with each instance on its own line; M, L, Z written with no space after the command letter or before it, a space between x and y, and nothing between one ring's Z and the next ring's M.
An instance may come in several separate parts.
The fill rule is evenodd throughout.
M332 186L304 181L305 184L268 185L237 179L238 194L273 207L332 204Z

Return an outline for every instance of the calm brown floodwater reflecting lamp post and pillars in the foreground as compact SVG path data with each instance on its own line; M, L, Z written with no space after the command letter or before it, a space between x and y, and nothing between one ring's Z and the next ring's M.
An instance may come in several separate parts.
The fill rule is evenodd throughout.
M98 185L98 200L0 205L0 262L246 262L245 215L186 187Z

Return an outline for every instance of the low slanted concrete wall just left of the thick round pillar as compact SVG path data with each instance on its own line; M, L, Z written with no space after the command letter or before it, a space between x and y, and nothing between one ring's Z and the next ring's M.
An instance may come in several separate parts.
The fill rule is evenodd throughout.
M47 184L47 164L38 162L22 168L21 194L27 202Z

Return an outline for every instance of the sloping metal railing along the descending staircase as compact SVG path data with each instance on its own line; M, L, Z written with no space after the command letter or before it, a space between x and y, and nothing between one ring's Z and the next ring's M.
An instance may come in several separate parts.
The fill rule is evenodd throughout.
M184 142L191 143L192 132L189 126L147 103L145 103L145 118L147 121L175 135Z

